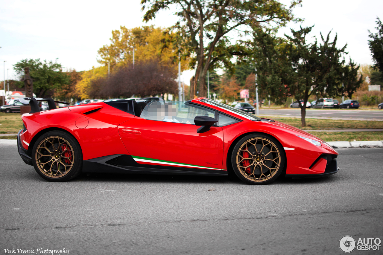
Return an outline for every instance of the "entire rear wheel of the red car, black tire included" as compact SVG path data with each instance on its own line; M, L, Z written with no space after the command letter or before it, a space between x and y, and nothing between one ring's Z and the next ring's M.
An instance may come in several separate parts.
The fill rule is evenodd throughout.
M32 162L34 170L45 180L68 181L82 171L82 150L79 142L69 133L49 131L34 143Z

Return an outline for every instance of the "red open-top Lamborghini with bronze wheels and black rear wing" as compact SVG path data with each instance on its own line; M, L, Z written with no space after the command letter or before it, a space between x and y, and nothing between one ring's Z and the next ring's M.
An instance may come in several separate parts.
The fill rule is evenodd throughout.
M39 111L38 101L50 110ZM24 98L18 151L48 181L81 172L226 176L248 184L336 173L338 153L298 128L208 98L120 100L56 109ZM56 101L57 102L57 101ZM60 102L62 103L62 102Z

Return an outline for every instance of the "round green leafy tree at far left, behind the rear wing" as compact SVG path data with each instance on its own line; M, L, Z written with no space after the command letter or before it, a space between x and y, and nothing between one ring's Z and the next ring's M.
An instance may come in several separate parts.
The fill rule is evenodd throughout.
M40 59L23 59L13 65L13 69L20 76L18 84L20 88L24 87L22 80L25 67L29 67L33 79L33 92L38 97L45 97L46 93L53 94L55 89L69 83L69 77L62 72L61 64Z

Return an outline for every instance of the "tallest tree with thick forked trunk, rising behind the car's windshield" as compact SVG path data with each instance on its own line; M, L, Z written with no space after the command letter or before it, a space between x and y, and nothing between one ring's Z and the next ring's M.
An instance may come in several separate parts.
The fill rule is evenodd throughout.
M182 47L183 55L192 56L191 67L195 67L190 98L196 91L207 96L206 74L219 65L231 65L234 55L244 54L241 45L232 45L229 33L237 31L240 36L261 24L283 26L294 20L292 8L301 0L293 0L286 7L277 0L141 0L142 10L147 10L144 21L155 18L158 11L178 8L180 17L173 29L177 31L175 44ZM180 50L181 51L181 50Z

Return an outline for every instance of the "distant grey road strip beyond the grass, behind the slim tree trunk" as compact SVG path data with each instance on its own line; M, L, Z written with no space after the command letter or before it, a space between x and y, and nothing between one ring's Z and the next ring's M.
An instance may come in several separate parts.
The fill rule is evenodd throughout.
M301 109L259 109L259 114L263 116L283 116L301 118ZM306 118L324 119L355 119L355 120L380 120L383 121L383 110L368 111L357 109L306 109Z

